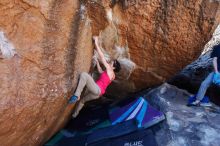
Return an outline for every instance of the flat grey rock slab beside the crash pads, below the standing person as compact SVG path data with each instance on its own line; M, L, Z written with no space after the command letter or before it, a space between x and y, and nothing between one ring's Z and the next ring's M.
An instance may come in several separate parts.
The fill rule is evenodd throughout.
M216 112L204 107L187 107L190 96L169 84L151 90L146 98L166 115L153 127L159 146L214 146L220 143L220 108Z

